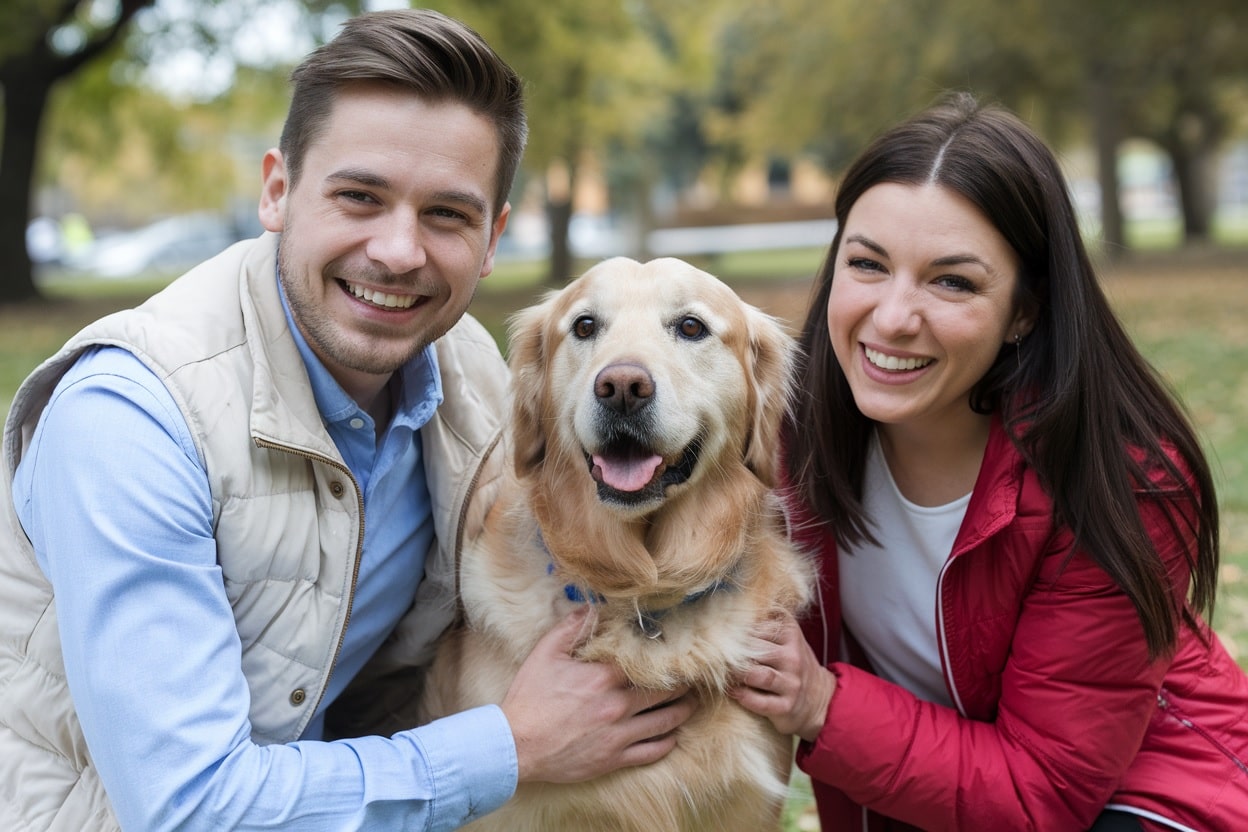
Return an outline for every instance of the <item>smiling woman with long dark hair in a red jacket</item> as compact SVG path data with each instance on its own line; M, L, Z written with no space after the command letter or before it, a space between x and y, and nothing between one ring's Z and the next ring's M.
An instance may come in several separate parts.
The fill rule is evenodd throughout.
M822 828L1248 828L1209 465L1052 153L955 96L836 220L786 435L820 604L735 692L801 737Z

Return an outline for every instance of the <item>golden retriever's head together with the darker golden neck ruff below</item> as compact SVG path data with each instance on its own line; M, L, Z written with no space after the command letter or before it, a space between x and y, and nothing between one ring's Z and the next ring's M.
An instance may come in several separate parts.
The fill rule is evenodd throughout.
M515 472L560 570L617 594L721 575L776 480L794 351L671 258L604 261L517 313Z

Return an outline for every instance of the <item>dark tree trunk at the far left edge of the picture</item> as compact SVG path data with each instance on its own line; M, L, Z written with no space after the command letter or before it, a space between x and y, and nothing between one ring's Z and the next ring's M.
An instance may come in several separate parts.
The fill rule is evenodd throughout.
M30 223L39 127L51 86L26 76L0 79L0 87L4 89L0 205L5 206L0 211L0 303L20 303L40 297L26 251L26 226Z

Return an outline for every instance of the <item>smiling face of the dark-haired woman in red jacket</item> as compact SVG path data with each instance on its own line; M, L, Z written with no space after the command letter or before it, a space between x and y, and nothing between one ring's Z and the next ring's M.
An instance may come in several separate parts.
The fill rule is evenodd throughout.
M927 435L973 428L971 388L1031 329L1018 256L980 211L936 185L882 183L850 208L827 327L859 409Z

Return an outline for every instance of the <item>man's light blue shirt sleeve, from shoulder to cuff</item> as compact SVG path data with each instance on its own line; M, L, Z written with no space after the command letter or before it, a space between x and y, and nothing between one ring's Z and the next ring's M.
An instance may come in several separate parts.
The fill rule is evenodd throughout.
M207 476L172 397L130 353L89 353L61 380L14 501L124 828L451 830L514 791L494 706L393 737L251 741Z

